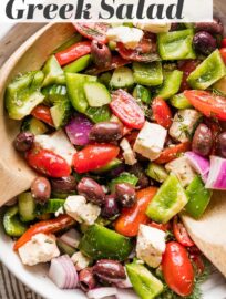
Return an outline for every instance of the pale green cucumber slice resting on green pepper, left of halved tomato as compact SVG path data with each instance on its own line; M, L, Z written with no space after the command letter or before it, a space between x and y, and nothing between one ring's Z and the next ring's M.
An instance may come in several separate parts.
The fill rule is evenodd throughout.
M99 82L86 82L84 84L84 93L91 107L101 107L111 102L109 90Z

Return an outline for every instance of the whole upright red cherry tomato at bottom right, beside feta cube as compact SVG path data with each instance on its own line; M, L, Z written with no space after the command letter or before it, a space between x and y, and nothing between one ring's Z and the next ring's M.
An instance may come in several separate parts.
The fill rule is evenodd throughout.
M166 244L162 260L167 286L179 296L189 296L194 289L193 265L186 249L176 241Z

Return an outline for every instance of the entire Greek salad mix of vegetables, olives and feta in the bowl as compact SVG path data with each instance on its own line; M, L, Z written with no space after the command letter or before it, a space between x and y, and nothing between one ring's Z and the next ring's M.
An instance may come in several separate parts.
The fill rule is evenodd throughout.
M24 265L48 262L59 288L91 299L202 298L209 265L179 216L199 219L226 190L223 31L75 23L9 83L13 146L38 174L4 207Z

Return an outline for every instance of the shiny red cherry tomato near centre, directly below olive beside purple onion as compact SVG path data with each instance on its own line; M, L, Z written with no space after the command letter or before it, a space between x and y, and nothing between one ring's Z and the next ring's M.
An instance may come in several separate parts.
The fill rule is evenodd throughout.
M120 153L120 148L111 144L88 145L74 154L73 166L82 174L106 165Z

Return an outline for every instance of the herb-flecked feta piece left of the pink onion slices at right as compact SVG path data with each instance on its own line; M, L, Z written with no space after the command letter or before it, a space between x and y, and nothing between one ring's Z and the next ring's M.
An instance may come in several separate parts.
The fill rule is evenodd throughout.
M191 167L185 156L167 163L165 168L167 172L173 172L178 177L183 187L188 186L196 176L195 171Z

